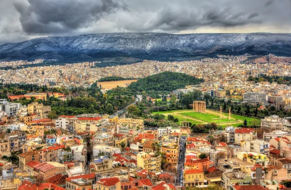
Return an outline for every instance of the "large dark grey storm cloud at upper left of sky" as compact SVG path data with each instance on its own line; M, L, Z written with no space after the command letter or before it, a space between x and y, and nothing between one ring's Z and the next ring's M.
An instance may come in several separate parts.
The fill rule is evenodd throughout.
M33 34L67 33L125 8L117 0L21 0L14 6L23 31Z

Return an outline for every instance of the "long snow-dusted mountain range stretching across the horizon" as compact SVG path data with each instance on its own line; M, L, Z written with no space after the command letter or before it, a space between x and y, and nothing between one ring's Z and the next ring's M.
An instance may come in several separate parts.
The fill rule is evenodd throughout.
M291 34L109 33L39 37L0 45L0 60L57 59L64 62L192 60L217 54L291 56Z

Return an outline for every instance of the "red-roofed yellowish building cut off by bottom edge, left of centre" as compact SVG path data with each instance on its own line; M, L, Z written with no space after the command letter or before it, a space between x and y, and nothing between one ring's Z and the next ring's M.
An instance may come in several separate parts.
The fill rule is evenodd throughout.
M121 190L121 182L117 177L101 178L93 185L96 190Z

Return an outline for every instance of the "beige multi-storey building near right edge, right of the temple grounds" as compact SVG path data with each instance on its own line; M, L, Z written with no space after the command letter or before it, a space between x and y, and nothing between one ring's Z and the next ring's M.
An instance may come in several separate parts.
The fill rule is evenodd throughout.
M261 120L261 128L269 131L282 130L283 119L272 115Z

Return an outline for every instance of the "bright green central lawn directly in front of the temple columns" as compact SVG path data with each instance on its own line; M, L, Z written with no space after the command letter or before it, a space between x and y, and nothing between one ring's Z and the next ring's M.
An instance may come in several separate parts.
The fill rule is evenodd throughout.
M181 113L181 115L184 116L189 116L191 118L197 119L197 120L201 120L201 121L205 121L205 122L216 122L216 123L221 123L221 122L231 122L231 121L235 121L235 120L228 120L227 118L225 119L218 119L219 116L217 115L212 115L212 114L203 114L203 113L198 113L198 112L185 112L185 113ZM216 119L216 120L213 120Z

